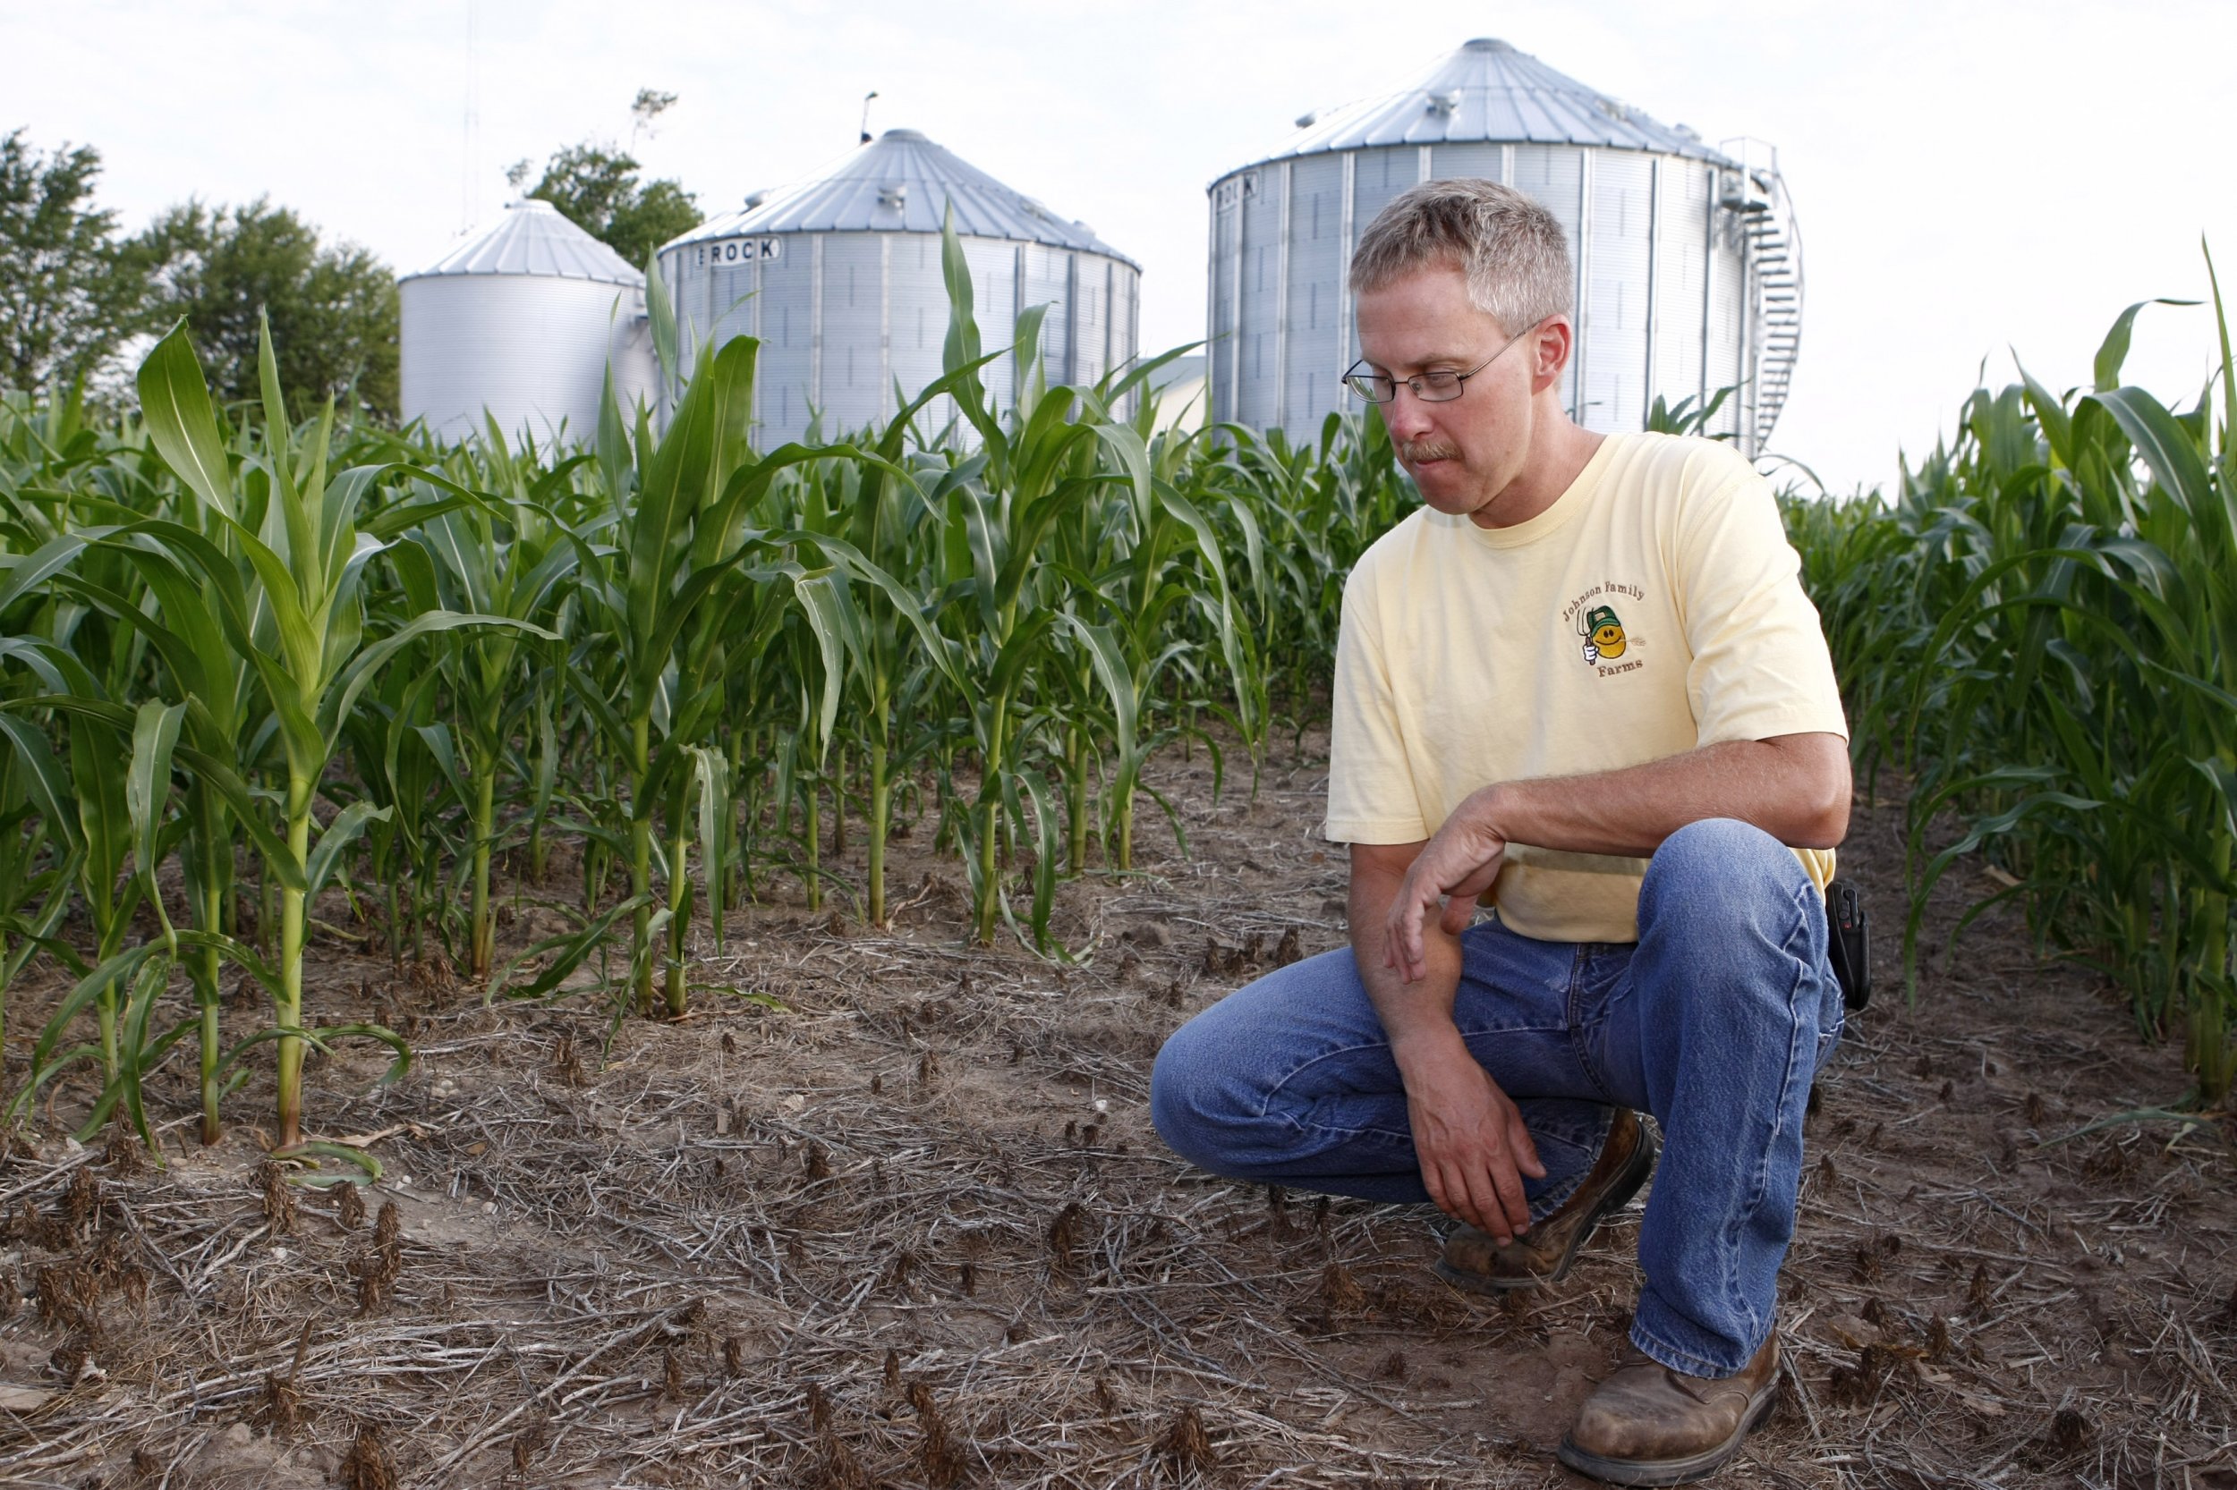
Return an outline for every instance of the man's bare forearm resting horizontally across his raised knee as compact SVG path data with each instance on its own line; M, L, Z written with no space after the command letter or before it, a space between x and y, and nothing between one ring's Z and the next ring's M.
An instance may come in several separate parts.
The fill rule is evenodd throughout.
M1832 734L1725 741L1591 776L1501 781L1461 812L1510 843L1586 855L1653 855L1687 823L1731 817L1794 848L1848 832L1848 743Z

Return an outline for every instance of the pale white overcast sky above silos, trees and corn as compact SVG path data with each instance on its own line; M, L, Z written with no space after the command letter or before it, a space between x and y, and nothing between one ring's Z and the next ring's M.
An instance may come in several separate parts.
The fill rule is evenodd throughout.
M2237 273L2237 4L2152 0L0 0L0 130L103 152L136 228L186 197L271 195L398 271L506 197L503 168L629 143L638 87L682 96L635 154L718 213L870 128L919 128L1143 264L1143 347L1204 336L1206 186L1309 107L1409 83L1470 36L1689 123L1778 145L1807 304L1774 447L1834 490L1948 432L1982 360L2087 383L2121 311ZM2233 277L2237 293L2237 277ZM2188 403L2208 311L2139 324L2130 376ZM1331 369L1333 374L1335 369Z

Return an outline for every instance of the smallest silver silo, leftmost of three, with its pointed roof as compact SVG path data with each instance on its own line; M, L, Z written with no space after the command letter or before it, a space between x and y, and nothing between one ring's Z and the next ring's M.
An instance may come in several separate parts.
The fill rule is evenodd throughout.
M622 407L658 387L644 275L535 197L396 284L403 414L443 438L483 427L586 441L613 362Z

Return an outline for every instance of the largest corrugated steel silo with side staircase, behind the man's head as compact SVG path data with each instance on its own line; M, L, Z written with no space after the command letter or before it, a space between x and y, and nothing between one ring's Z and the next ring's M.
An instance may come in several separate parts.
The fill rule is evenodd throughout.
M1637 430L1655 394L1738 387L1716 427L1747 452L1769 438L1801 342L1801 237L1765 145L1711 150L1501 40L1297 130L1210 188L1215 418L1318 430L1358 358L1360 230L1416 181L1488 177L1568 233L1582 423Z

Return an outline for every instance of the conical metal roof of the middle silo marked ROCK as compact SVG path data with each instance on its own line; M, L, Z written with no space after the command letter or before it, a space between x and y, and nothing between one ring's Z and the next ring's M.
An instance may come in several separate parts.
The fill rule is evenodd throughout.
M964 237L1078 248L1132 264L1087 224L1058 217L917 130L886 130L808 181L756 195L738 213L709 217L662 244L662 253L716 237L770 233L940 233L951 204L955 230Z

